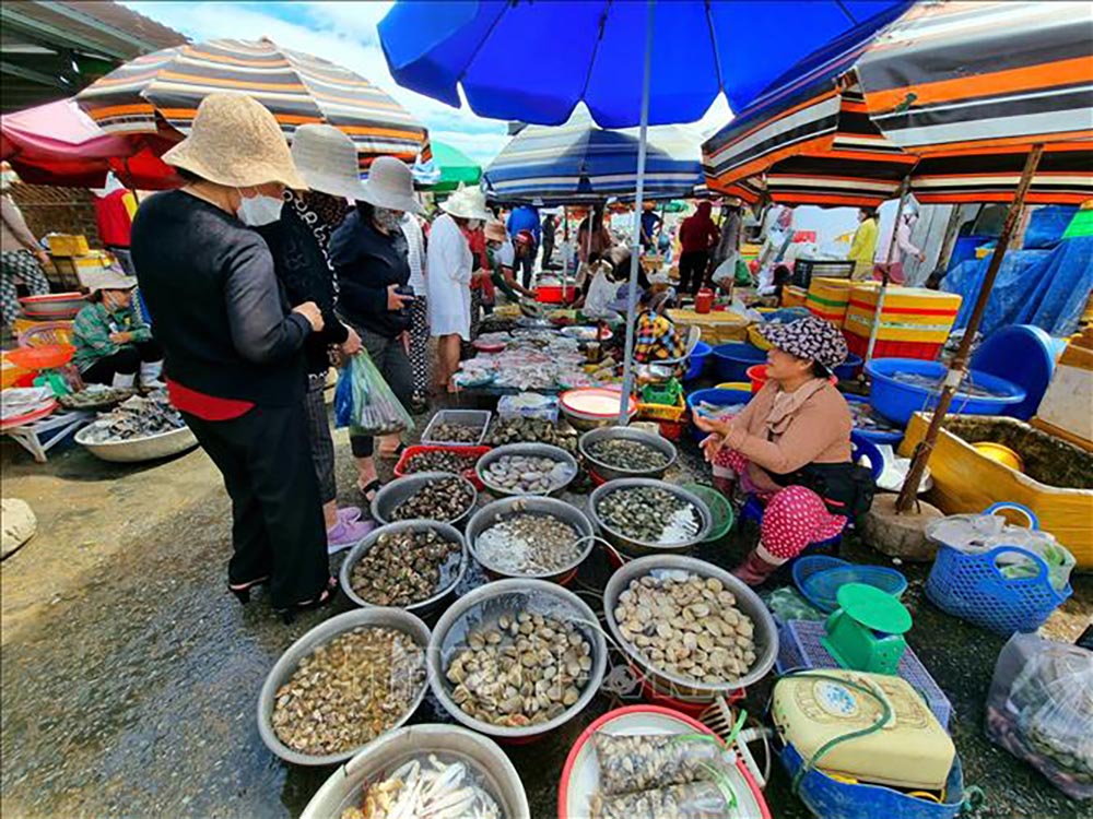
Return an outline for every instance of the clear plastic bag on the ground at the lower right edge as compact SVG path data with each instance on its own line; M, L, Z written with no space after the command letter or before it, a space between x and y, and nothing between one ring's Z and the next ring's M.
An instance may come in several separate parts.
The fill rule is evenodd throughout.
M986 731L1067 796L1093 798L1093 652L1011 637L995 665Z

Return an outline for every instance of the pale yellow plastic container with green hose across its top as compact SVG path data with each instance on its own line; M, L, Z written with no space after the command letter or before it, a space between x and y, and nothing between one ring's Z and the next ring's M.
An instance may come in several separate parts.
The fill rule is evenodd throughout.
M832 746L815 767L828 776L940 792L956 748L922 698L901 677L835 669L790 675L775 685L771 713L781 739L809 760L832 740L874 725L883 715L879 699L892 712L884 725Z

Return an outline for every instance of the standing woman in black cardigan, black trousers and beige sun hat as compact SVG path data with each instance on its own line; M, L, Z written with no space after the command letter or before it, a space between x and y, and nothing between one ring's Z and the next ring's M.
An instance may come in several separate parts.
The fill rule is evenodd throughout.
M268 583L291 619L337 590L303 405L304 343L324 321L314 302L289 309L269 248L237 214L307 186L273 115L235 94L207 96L163 158L187 185L141 204L132 256L167 389L232 497L230 590L245 603Z

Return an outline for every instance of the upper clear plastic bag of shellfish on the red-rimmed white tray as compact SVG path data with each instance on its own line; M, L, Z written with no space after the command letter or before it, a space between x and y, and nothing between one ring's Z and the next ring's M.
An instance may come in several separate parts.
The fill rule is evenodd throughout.
M725 749L705 734L633 734L592 737L606 795L725 778Z

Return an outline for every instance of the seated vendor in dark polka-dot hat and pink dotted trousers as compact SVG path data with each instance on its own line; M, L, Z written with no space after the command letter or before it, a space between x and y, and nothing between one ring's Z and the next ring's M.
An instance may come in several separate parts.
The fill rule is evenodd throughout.
M851 463L850 411L832 381L847 355L842 333L814 316L761 332L773 345L763 389L733 418L695 417L710 434L702 448L715 475L766 505L760 543L733 571L749 585L839 534L859 499L872 497Z

